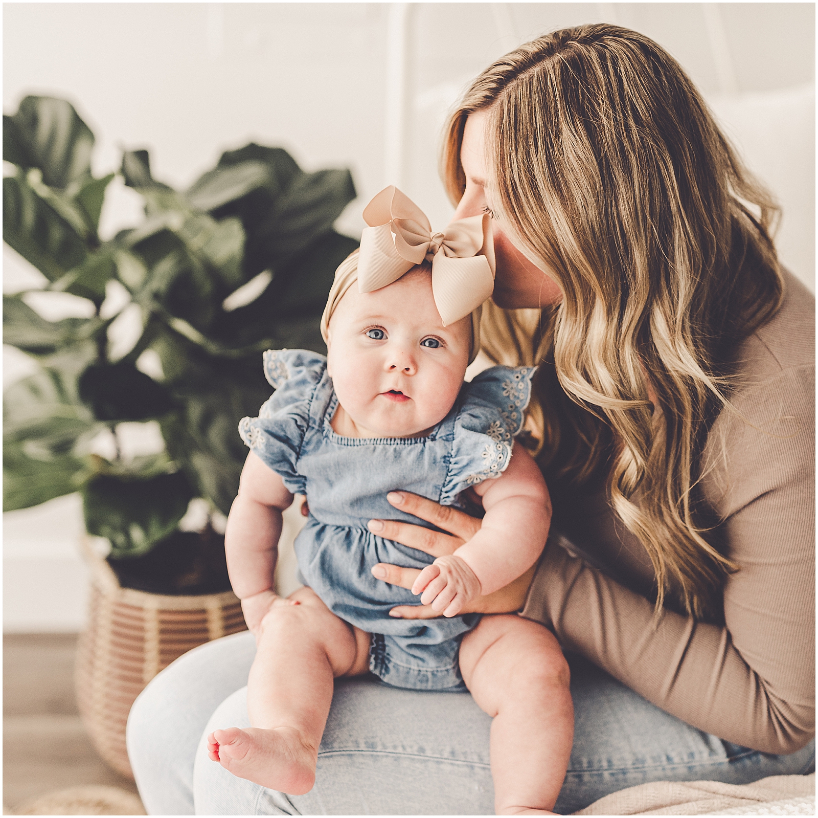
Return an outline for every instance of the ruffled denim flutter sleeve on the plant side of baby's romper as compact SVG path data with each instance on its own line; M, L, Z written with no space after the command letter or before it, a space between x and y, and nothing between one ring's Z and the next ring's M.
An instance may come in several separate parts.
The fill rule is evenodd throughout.
M310 404L326 370L326 358L309 350L267 350L264 375L276 390L258 418L242 418L239 434L293 494L304 494L298 460L307 433Z

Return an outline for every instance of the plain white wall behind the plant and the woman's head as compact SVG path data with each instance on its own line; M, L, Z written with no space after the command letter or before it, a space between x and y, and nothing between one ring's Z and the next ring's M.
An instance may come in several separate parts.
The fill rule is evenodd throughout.
M27 93L68 97L97 135L97 174L118 167L122 147L149 147L155 176L185 187L223 150L281 145L305 169L352 169L359 196L337 225L350 235L366 201L395 181L384 140L397 4L5 3L2 14L3 110ZM685 66L783 202L780 254L814 291L811 3L413 3L402 188L445 224L438 133L457 94L519 43L602 20L643 31ZM138 197L112 185L102 232L138 219ZM6 247L3 263L5 291L38 280ZM83 310L70 301L54 309ZM26 365L4 347L4 382ZM77 498L4 514L3 531L4 629L82 626Z

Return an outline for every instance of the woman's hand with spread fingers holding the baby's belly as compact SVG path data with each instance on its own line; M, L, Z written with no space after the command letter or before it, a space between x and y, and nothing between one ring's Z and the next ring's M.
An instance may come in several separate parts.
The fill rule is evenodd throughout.
M395 508L400 508L421 520L431 522L443 531L429 531L428 528L412 525L411 522L395 522L393 520L370 520L369 530L373 534L394 540L409 548L425 551L426 554L438 558L454 554L466 540L470 540L480 530L481 522L476 517L470 517L465 512L451 506L440 505L433 500L410 494L408 491L390 491L386 499ZM501 588L488 596L481 596L468 603L461 613L510 613L523 607L528 585L531 584L536 565L528 569L523 576L519 576L510 585ZM372 567L372 576L389 585L398 585L411 590L417 577L418 568L402 568L389 563L378 563ZM392 617L402 619L430 619L439 617L431 605L398 605L389 612Z

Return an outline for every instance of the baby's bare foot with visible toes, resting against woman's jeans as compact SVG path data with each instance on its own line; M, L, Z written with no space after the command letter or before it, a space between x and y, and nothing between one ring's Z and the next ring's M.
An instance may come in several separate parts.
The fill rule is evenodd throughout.
M239 778L290 795L308 793L315 784L317 752L293 727L231 727L215 730L207 743L211 761Z

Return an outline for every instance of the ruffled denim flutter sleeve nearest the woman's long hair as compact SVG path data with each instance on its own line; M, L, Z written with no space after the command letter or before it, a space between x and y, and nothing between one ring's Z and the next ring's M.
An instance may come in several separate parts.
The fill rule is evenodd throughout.
M535 371L536 367L495 366L463 386L442 504L458 504L461 491L506 470L515 436L523 431Z

